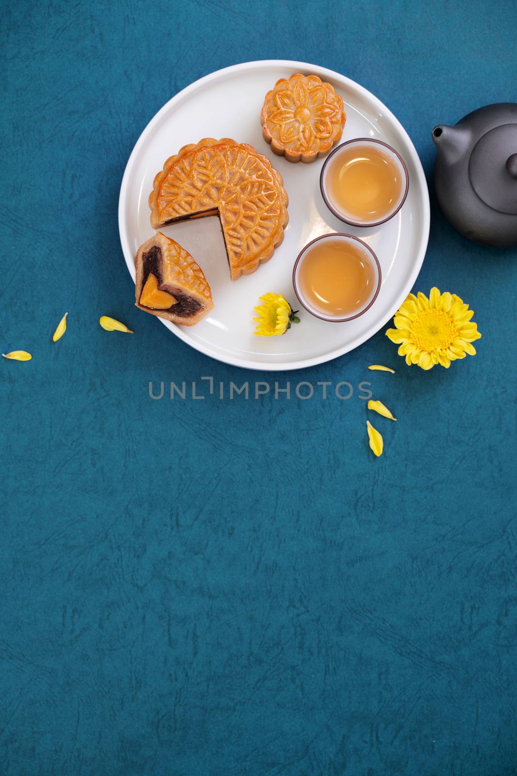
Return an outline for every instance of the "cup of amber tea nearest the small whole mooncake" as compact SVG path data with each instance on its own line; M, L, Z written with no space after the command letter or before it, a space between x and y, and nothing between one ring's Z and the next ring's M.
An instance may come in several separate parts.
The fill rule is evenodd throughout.
M402 158L380 140L359 138L329 155L320 178L322 195L335 216L354 226L384 223L402 207L408 172Z

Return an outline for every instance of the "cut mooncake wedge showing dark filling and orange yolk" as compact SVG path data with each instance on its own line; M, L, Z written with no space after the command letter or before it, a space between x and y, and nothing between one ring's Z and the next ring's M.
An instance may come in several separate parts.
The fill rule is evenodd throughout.
M193 326L214 307L202 268L177 242L157 232L136 252L136 307Z

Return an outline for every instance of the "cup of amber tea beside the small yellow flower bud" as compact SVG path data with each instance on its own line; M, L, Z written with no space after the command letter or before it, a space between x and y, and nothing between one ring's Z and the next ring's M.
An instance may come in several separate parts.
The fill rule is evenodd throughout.
M298 256L293 272L298 300L323 320L362 315L377 296L381 268L366 243L349 234L324 234Z

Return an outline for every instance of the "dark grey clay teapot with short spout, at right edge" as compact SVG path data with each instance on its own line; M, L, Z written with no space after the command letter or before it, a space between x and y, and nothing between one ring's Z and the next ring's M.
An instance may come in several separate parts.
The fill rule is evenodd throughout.
M517 246L517 103L498 102L456 126L439 124L434 179L443 213L470 240Z

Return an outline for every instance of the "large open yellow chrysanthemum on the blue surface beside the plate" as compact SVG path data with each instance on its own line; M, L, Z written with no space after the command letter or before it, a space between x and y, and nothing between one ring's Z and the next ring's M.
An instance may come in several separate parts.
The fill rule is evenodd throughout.
M429 299L419 292L410 293L394 317L395 329L386 336L400 345L398 355L405 355L406 364L418 364L422 369L433 369L441 364L449 369L450 362L464 359L467 353L476 355L471 345L481 337L469 310L456 294L440 294L431 289Z

